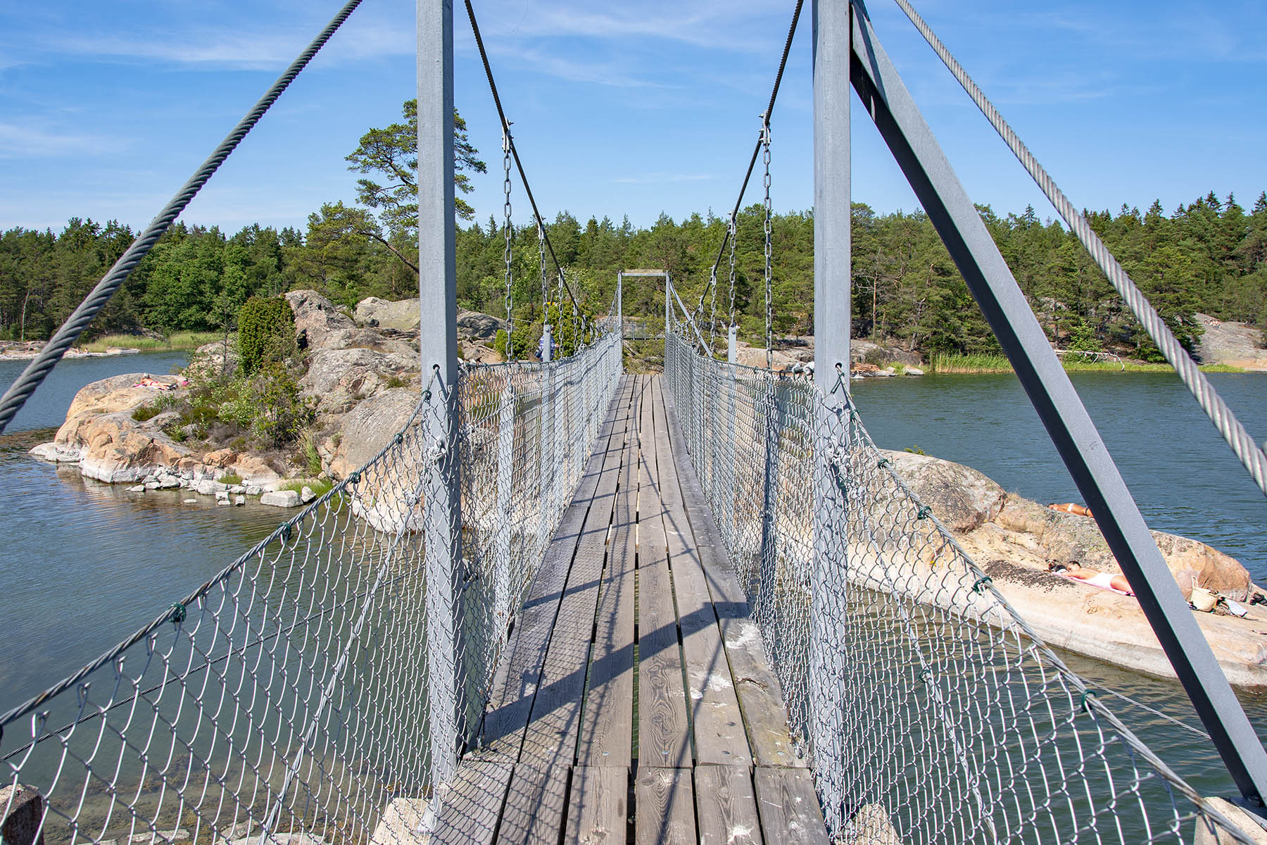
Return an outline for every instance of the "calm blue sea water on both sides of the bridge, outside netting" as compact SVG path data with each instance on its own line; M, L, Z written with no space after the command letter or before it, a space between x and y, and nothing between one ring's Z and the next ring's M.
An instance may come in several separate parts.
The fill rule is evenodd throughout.
M0 711L161 614L276 526L275 508L184 504L184 492L129 494L25 455L52 437L35 429L60 424L84 384L180 364L181 355L66 361L11 429L27 433L0 437ZM20 362L0 362L0 389L20 370ZM1267 436L1267 375L1211 379L1251 433ZM1110 372L1076 374L1074 384L1149 524L1223 549L1267 579L1267 502L1178 380ZM1041 502L1079 500L1012 376L874 380L854 389L882 447L919 446ZM1092 685L1196 722L1173 682L1067 660ZM1267 698L1243 694L1242 702L1267 737ZM1130 704L1116 709L1195 787L1234 792L1205 740Z

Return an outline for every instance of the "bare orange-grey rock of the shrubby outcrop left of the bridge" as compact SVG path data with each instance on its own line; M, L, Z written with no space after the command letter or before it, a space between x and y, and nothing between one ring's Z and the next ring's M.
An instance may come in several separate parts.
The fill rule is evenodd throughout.
M209 343L180 375L133 372L89 384L37 457L73 464L91 479L139 490L188 488L222 502L258 495L295 507L314 489L346 478L400 429L418 402L418 300L370 298L355 313L313 290L285 295L294 317L291 359L305 413L296 443L261 445L241 427L190 422L189 394L239 367L237 343ZM461 355L497 361L492 342L504 321L459 315ZM214 397L213 397L214 399ZM247 432L248 435L248 432ZM296 489L281 489L294 486Z

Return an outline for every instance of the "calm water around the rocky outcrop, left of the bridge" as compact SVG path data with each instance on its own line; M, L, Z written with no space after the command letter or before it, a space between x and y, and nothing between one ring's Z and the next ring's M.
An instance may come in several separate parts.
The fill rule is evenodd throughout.
M0 435L0 712L122 641L277 526L281 512L253 500L217 508L186 490L128 493L27 455L53 438L85 384L185 361L184 352L63 361ZM24 366L0 361L0 391Z

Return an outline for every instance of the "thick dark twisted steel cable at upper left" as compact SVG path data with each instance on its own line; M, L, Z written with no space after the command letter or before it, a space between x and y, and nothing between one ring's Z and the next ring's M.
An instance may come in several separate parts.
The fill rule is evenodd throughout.
M229 157L242 138L247 136L248 132L260 122L260 118L269 110L269 108L281 96L281 92L290 86L290 84L299 76L299 72L308 66L313 56L326 46L331 35L343 25L347 16L361 5L361 0L348 0L347 4L340 9L338 14L326 24L326 28L321 30L321 34L313 39L310 44L290 63L285 73L277 77L277 81L260 98L258 103L255 104L245 118L233 128L233 130L220 142L210 157L203 162L189 181L176 193L175 196L169 200L167 205L158 213L158 215L150 222L132 246L114 262L110 271L101 277L101 281L96 283L96 286L84 298L79 308L66 318L62 327L57 329L57 333L48 341L39 355L27 365L27 369L22 371L22 375L9 385L5 390L4 397L0 398L0 433L4 432L5 427L13 421L22 407L35 391L35 388L44 380L44 378L52 372L57 362L62 360L62 356L75 345L79 336L84 333L84 329L89 327L92 319L105 308L110 298L114 296L115 291L123 285L123 283L132 275L141 260L148 255L153 245L162 237L167 227L180 217L180 213L185 210L190 200L201 190L207 180L219 168L224 160Z

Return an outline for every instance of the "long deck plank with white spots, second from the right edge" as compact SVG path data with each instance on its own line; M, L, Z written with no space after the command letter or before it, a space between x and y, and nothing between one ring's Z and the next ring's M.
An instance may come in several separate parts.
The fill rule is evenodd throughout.
M664 502L664 530L673 571L673 592L682 626L682 654L691 693L691 723L696 761L750 765L751 753L735 693L717 613L704 580L703 565L678 484L669 442L661 380L655 384L656 462Z

